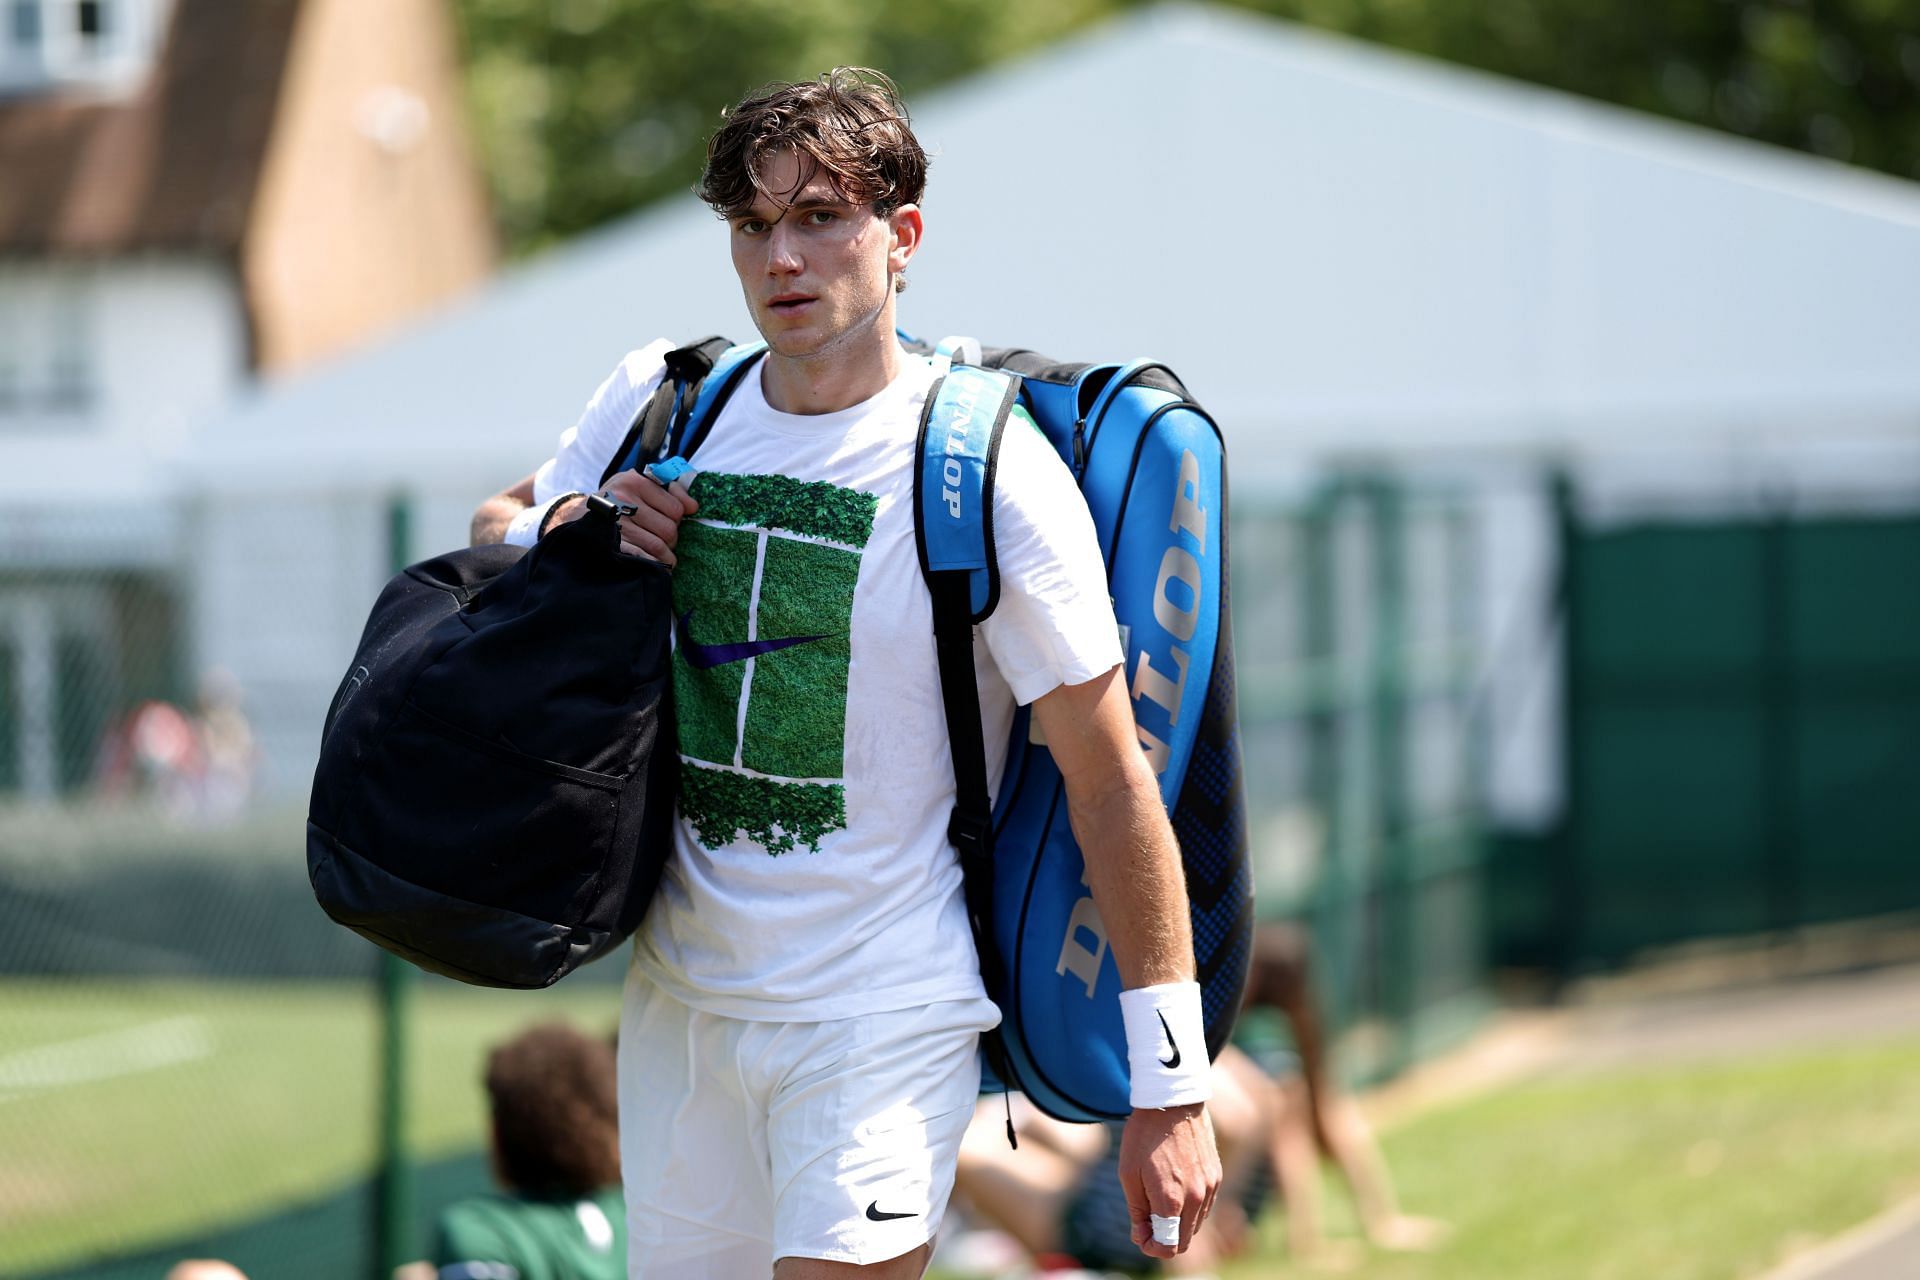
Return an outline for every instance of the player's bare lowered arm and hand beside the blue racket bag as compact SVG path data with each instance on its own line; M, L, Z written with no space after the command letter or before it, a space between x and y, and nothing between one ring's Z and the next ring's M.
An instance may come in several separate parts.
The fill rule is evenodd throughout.
M1192 983L1187 881L1160 785L1135 735L1123 668L1056 687L1033 702L1033 716L1066 781L1073 835L1121 986ZM1206 1046L1192 1052L1206 1071ZM1133 1242L1152 1257L1185 1251L1219 1192L1206 1105L1137 1107L1119 1146L1119 1180L1133 1211ZM1177 1217L1179 1244L1156 1244L1148 1215Z

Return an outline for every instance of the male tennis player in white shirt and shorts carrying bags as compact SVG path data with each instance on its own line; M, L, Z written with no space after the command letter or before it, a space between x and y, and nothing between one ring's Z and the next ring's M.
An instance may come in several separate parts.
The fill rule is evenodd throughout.
M634 1276L920 1276L979 1088L985 998L947 841L952 760L914 545L914 438L935 365L895 336L925 154L893 84L837 69L726 113L701 196L726 219L766 355L691 482L616 474L624 547L674 570L684 781L676 856L620 1021ZM630 282L643 290L645 282ZM482 505L532 543L662 378L628 355L559 451ZM1092 522L1008 422L1000 604L979 628L989 775L1031 704L1121 983L1135 1111L1119 1178L1152 1257L1219 1184L1173 833L1133 729Z

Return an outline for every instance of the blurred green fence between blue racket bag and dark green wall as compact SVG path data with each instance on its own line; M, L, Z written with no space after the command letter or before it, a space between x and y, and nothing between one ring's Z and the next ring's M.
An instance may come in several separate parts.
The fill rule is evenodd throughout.
M1476 528L1463 495L1365 474L1240 510L1260 913L1311 927L1357 1079L1486 1007Z

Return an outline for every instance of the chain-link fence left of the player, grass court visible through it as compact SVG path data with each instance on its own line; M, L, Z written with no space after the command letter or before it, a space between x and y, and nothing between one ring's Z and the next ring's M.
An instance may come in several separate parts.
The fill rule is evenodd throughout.
M332 925L301 798L253 793L240 691L190 670L184 591L0 576L0 1276L384 1274L488 1184L486 1048L611 1034L618 965L478 992Z

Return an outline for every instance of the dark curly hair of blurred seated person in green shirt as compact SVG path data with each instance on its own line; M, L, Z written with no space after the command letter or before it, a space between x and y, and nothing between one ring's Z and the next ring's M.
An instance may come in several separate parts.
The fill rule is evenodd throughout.
M591 1196L620 1180L614 1052L541 1023L486 1059L493 1146L505 1182L540 1197Z

